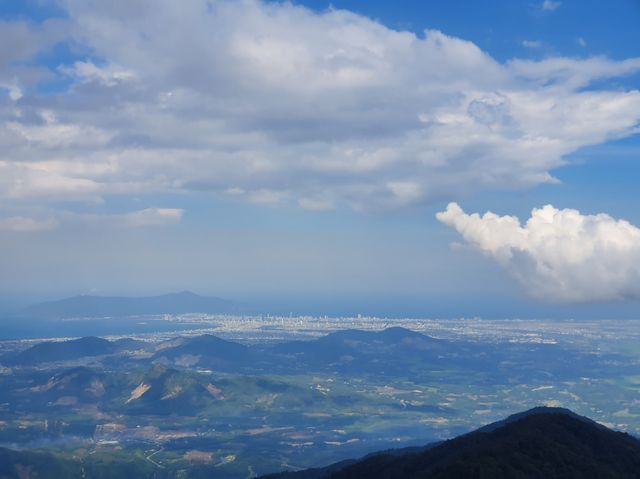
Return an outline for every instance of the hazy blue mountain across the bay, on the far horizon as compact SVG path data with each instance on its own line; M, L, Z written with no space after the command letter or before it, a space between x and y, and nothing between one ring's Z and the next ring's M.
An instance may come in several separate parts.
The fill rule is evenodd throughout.
M74 296L34 304L23 310L33 318L123 317L150 314L251 314L256 308L214 296L189 291L147 297Z

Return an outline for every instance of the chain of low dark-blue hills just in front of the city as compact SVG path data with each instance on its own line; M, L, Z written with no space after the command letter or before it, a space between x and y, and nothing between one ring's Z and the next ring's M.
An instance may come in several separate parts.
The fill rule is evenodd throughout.
M482 364L465 344L453 345L414 331L394 327L382 331L343 330L307 341L245 345L205 334L174 338L158 345L131 339L108 341L84 337L45 341L0 356L6 366L35 366L149 349L145 360L180 369L199 367L224 371L275 372L351 371L393 375L428 363L434 369L462 362ZM459 356L463 356L460 359Z

